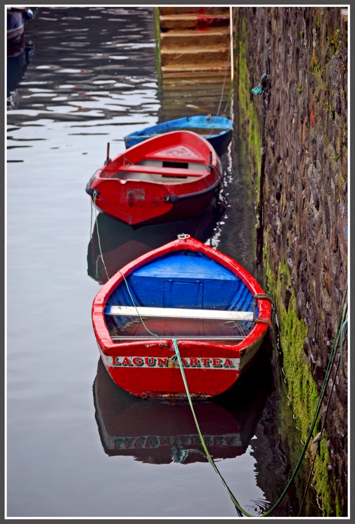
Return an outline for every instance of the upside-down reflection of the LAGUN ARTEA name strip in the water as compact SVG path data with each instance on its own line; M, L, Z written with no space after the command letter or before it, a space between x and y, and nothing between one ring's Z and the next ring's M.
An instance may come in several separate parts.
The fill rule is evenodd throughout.
M218 447L241 446L239 433L225 435L204 435L206 445ZM113 437L110 447L115 450L153 449L161 446L199 446L201 441L196 435L140 435Z

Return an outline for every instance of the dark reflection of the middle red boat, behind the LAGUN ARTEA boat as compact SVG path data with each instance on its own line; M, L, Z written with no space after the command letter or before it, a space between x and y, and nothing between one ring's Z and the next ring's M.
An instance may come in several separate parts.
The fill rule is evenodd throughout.
M132 227L105 213L98 213L87 248L87 273L104 284L121 267L151 249L175 240L181 233L206 242L214 234L221 213L223 208L212 204L202 213L185 220L139 227Z

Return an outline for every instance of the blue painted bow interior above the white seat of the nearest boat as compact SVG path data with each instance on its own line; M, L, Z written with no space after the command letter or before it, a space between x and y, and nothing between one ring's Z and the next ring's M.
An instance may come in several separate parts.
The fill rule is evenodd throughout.
M132 299L144 307L252 311L253 296L229 269L202 253L174 252L127 278ZM108 305L134 305L123 282Z

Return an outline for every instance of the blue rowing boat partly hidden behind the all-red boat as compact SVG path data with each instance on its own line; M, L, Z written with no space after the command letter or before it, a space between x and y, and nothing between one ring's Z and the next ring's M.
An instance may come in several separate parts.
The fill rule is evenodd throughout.
M232 136L232 121L225 116L197 115L176 118L146 127L124 137L126 148L139 144L152 136L171 131L188 130L202 135L214 147L217 155L223 155Z

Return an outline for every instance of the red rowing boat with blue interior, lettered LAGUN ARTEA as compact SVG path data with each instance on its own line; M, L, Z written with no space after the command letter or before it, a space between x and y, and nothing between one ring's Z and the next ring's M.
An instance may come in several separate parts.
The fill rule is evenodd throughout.
M230 388L252 362L271 319L258 282L189 235L151 250L110 278L92 307L105 367L129 393L192 397Z

